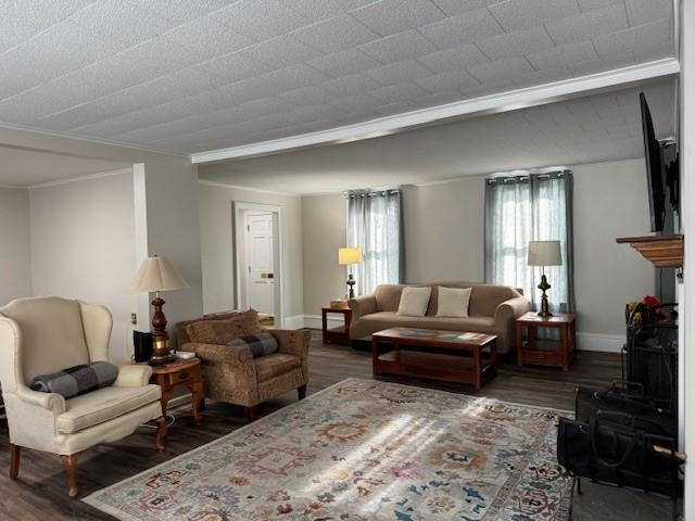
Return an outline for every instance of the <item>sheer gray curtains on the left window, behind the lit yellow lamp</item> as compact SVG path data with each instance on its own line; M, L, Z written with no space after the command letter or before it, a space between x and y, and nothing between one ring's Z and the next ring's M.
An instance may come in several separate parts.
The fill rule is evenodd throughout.
M353 190L348 198L346 246L362 249L363 262L349 266L358 295L403 277L401 190Z

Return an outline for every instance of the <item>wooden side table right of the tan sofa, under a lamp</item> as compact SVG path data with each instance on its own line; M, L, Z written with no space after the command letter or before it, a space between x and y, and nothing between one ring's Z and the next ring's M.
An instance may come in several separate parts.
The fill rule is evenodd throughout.
M523 341L523 328L528 331L527 342ZM560 341L538 339L535 330L539 328L559 329ZM569 371L577 347L576 338L573 314L558 313L552 317L540 317L529 312L517 318L517 363L519 366L535 364L561 367L563 371Z

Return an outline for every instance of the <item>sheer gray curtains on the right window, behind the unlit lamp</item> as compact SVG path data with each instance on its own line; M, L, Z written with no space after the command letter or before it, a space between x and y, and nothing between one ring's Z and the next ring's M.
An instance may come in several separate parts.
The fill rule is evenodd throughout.
M563 265L545 268L551 310L573 313L572 173L485 180L486 282L523 288L538 309L543 268L527 266L529 241L553 240L560 241Z

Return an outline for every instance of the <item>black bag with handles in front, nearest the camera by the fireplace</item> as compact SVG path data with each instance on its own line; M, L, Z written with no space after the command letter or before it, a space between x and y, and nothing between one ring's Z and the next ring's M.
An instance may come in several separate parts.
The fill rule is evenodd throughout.
M635 417L624 412L598 410L589 421L559 419L557 460L570 475L675 497L681 493L675 449L673 437L635 427Z

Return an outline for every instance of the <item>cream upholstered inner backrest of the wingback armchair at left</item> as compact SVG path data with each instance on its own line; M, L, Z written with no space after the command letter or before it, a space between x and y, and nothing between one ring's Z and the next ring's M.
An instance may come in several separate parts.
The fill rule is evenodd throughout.
M20 326L25 383L39 374L89 364L78 301L20 298L0 308L0 314Z

